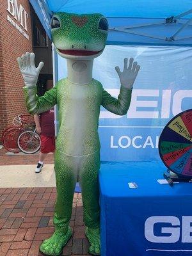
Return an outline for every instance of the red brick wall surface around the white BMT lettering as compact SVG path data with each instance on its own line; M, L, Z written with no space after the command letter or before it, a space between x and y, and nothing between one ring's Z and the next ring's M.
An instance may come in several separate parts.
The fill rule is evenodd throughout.
M8 1L1 0L0 12L0 141L2 131L12 124L15 116L26 113L24 105L24 86L22 76L17 65L17 58L26 51L32 51L31 37L31 16L28 0L17 0L17 4L22 4L28 13L27 28L25 31L20 23L6 10ZM22 35L7 20L9 15L16 24L22 28L29 36L29 40Z

